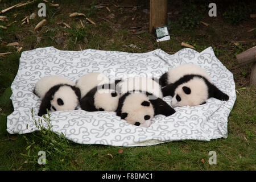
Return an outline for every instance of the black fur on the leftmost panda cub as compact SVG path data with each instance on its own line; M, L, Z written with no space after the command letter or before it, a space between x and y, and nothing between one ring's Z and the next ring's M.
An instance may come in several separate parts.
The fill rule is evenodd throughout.
M54 96L55 92L57 92L57 90L59 90L59 88L61 86L70 86L75 91L77 99L80 100L80 97L81 97L80 89L76 88L76 86L71 86L71 85L68 85L68 84L59 84L59 85L52 86L52 88L49 89L48 92L43 97L43 100L42 100L41 105L39 107L39 112L38 112L39 116L47 114L47 109L48 109L48 111L51 109L51 100L53 99L53 96ZM55 110L55 109L53 108L53 110Z

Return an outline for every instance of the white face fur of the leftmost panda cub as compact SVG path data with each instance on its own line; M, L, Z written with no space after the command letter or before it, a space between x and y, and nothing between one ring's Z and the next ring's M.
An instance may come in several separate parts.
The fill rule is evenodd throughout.
M61 98L63 100L64 105L58 105L57 99ZM76 96L76 93L70 86L60 86L60 88L55 92L53 96L53 100L51 100L51 105L56 108L56 110L75 110L77 105L79 104L79 100ZM52 109L51 111L55 111Z

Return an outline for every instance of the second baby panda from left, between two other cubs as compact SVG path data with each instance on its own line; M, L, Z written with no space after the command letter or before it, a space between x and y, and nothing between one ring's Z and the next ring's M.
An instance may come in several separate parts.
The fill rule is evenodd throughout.
M81 109L86 111L115 111L119 94L115 92L115 84L102 73L88 73L76 84L81 90Z

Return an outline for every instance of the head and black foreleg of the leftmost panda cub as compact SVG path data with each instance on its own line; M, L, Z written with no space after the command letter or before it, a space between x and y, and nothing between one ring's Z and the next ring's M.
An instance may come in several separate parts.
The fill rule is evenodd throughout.
M49 111L75 110L80 100L80 90L76 86L59 84L53 86L43 97L38 115Z

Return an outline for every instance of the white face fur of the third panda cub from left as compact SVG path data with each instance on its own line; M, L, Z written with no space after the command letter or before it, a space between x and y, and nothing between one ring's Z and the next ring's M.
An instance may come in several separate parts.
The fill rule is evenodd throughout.
M150 106L142 106L143 101L150 102L148 97L142 93L132 93L126 97L123 102L122 113L127 113L125 120L134 125L135 122L140 122L141 127L149 127L151 119L154 117L154 108L150 103ZM150 115L150 119L144 120L144 115Z

